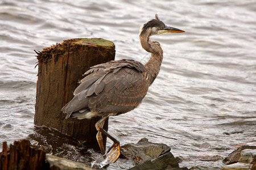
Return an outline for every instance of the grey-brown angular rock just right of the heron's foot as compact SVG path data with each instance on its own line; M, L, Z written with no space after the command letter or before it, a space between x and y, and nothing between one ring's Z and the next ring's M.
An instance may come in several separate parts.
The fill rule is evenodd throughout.
M147 138L142 138L137 144L129 143L121 147L122 155L136 163L143 163L158 158L171 148L163 143L148 142Z

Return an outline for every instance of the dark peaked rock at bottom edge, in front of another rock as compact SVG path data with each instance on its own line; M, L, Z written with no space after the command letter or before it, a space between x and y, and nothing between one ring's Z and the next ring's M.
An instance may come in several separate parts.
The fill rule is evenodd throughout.
M179 164L177 163L176 159L174 158L174 155L172 155L171 152L168 152L159 158L148 160L146 162L143 162L141 164L136 165L133 168L130 168L129 170L160 170L160 169L168 169L168 170L185 170L188 168L180 168Z

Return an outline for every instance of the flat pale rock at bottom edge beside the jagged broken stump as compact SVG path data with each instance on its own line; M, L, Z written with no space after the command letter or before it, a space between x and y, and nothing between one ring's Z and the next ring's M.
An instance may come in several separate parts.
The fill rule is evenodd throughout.
M93 170L85 164L49 154L46 154L46 162L49 163L49 168L54 170Z

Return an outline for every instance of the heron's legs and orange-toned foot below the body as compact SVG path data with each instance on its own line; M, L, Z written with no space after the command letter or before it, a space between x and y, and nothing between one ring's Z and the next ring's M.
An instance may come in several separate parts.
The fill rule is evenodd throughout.
M105 150L104 150L104 146L103 146L102 134L101 133L105 134L108 138L110 138L114 142L113 145L109 148L109 150L107 152L107 154L108 154L111 151L108 155L109 163L114 163L118 159L118 157L121 153L120 144L119 144L119 141L117 141L117 139L112 137L112 135L110 135L108 132L106 132L106 130L103 129L104 122L106 121L106 118L108 118L108 116L102 117L101 120L99 120L96 123L96 129L98 130L98 133L97 133L96 137L97 137L97 141L100 145L101 152L104 151L104 152L102 152L102 155L105 154Z

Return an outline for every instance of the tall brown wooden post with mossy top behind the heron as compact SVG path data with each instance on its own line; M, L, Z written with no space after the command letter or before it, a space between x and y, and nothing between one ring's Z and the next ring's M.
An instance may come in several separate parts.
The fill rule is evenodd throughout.
M89 67L114 60L115 45L104 39L71 39L36 53L38 82L34 124L54 128L99 151L95 124L100 118L65 119L60 110L73 98L73 91ZM104 129L108 130L108 121Z

